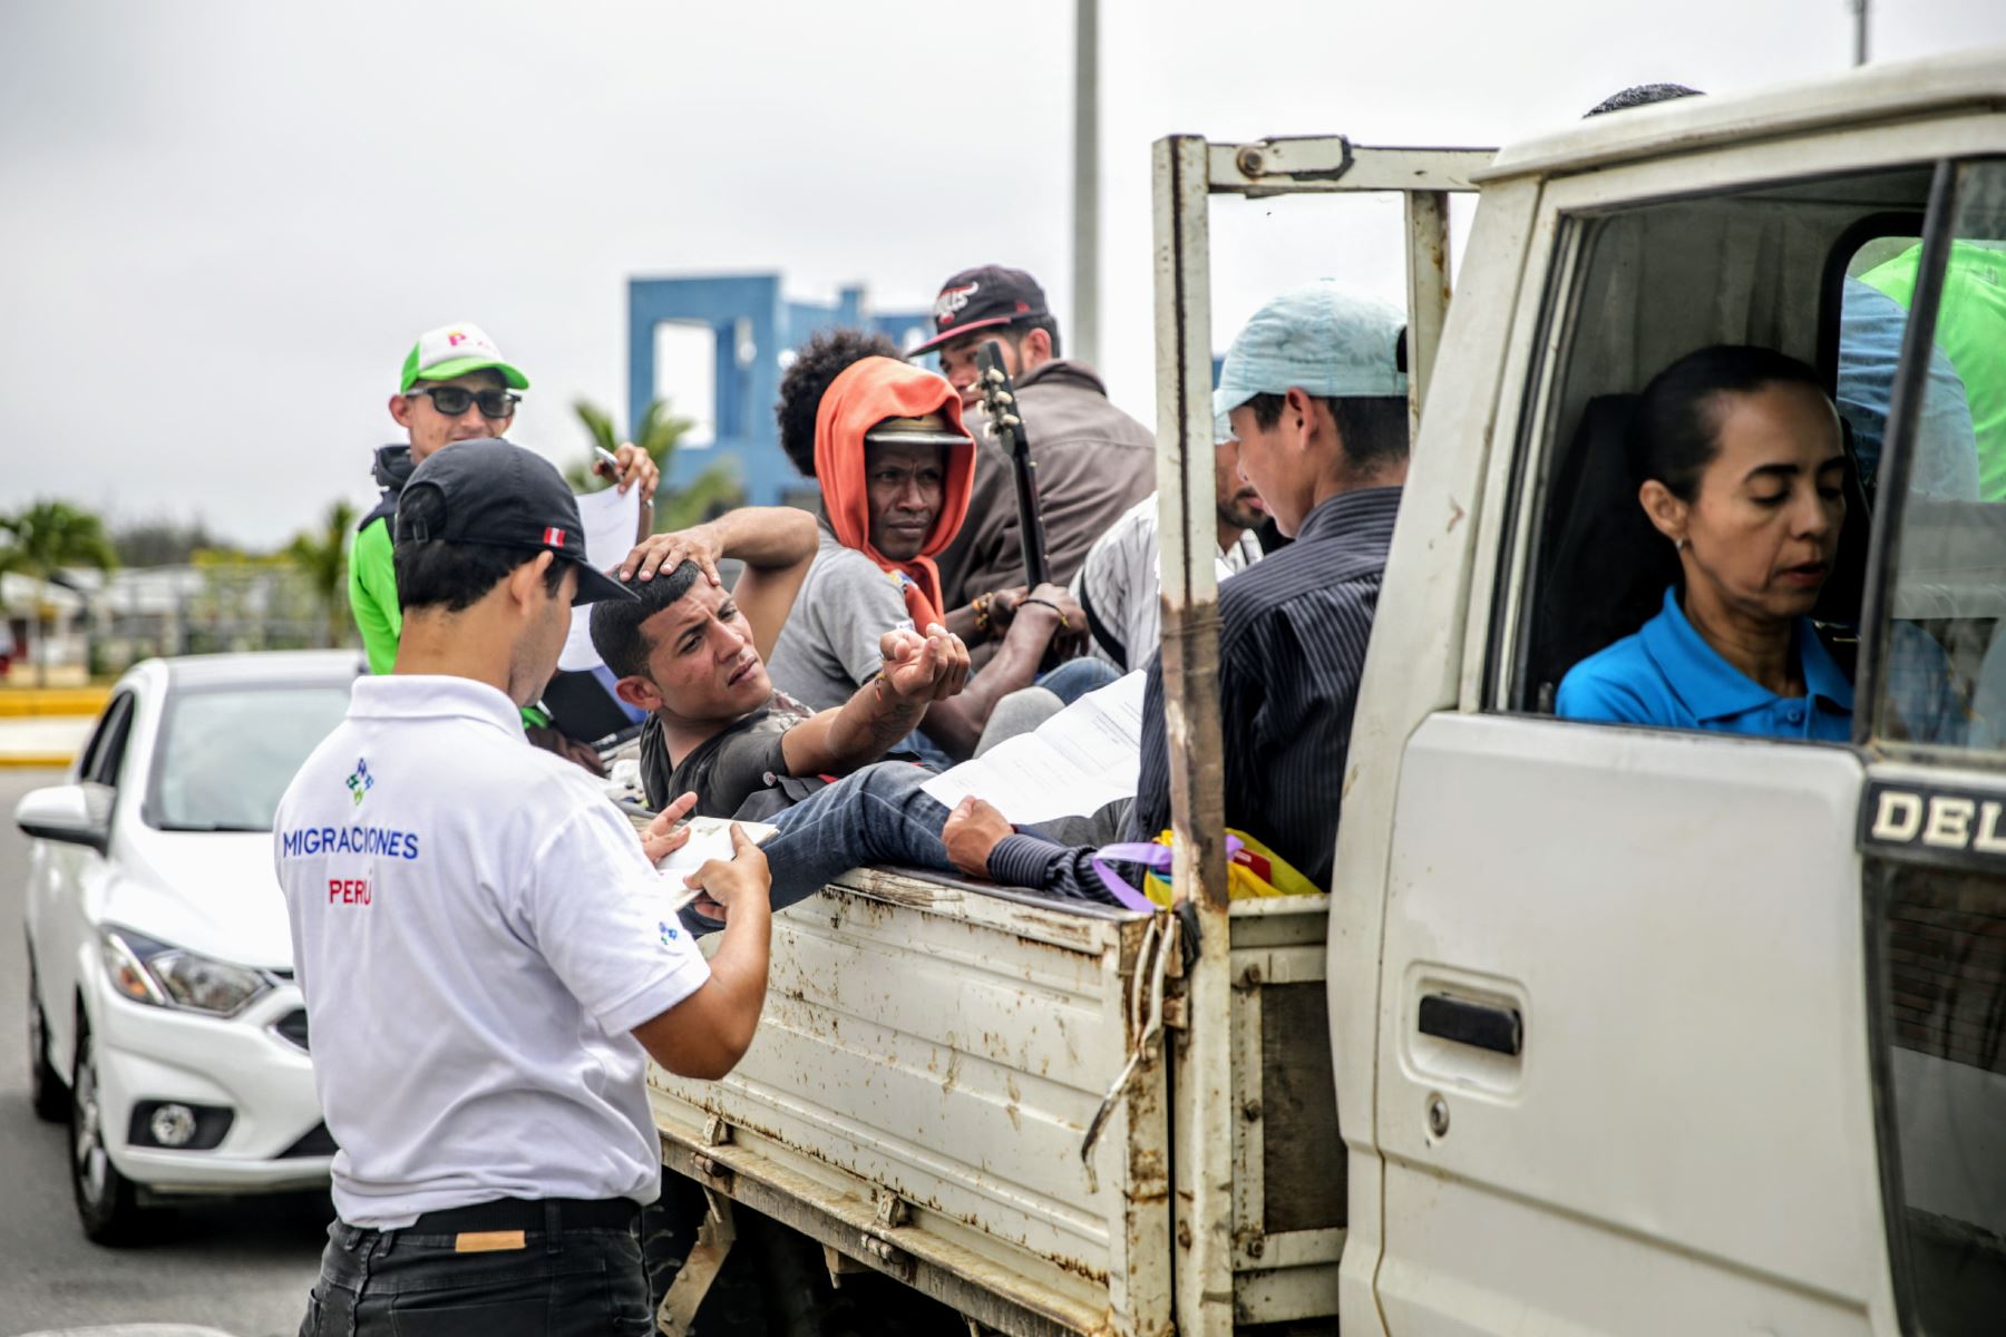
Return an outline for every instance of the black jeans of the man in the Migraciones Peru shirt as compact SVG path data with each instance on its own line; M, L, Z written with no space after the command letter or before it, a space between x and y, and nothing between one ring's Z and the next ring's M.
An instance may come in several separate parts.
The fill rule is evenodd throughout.
M524 1231L520 1249L457 1253L459 1235L327 1227L301 1337L648 1337L636 1229Z

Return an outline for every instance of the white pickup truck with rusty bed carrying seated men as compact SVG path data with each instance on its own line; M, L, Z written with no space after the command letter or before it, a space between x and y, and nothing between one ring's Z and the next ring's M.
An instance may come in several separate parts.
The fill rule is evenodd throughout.
M971 1331L2006 1331L2006 52L1496 154L1155 164L1184 906L859 870L778 916L740 1068L652 1078L714 1209L664 1331L734 1203ZM1228 906L1208 196L1354 190L1406 200L1414 467L1334 894ZM1850 281L1900 257L1898 337L1864 341ZM1978 495L1922 487L1932 335ZM1886 417L1846 409L1878 463L1821 607L1858 633L1852 744L1553 716L1637 595L1597 545L1635 505L1627 397L1711 343L1846 369ZM1904 635L1958 706L1930 744L1894 726Z

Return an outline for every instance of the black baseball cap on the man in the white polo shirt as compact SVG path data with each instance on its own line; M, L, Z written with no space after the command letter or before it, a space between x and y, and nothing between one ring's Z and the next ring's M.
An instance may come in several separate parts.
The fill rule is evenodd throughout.
M445 503L443 523L413 523L405 513L405 503L421 491ZM487 543L554 553L578 567L574 605L640 597L586 559L586 525L564 475L536 451L501 437L455 441L427 455L397 497L391 535L397 543Z

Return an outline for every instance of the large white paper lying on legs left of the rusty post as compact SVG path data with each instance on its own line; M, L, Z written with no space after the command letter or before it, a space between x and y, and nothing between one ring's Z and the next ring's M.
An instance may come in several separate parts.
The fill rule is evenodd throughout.
M1135 798L1147 674L1089 692L1031 734L1005 740L921 790L953 808L973 794L1013 824L1085 818Z

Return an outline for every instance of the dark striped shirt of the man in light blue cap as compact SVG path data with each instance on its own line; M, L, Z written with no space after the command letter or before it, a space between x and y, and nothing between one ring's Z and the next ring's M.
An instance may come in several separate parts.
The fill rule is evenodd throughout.
M1398 509L1398 487L1338 493L1304 517L1294 543L1220 585L1226 824L1260 838L1326 888L1358 676ZM1125 834L1153 840L1167 828L1169 746L1157 655L1149 659L1141 778ZM1005 836L989 852L989 876L1071 900L1111 900L1089 866L1091 854L1039 836Z

